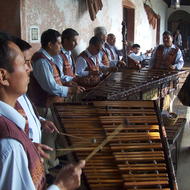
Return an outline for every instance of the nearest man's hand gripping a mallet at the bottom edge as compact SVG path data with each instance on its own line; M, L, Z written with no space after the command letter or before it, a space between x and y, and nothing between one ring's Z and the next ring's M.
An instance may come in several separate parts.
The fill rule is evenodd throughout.
M82 168L85 166L85 161L81 160L78 164L69 164L61 169L56 180L60 190L75 190L80 186Z

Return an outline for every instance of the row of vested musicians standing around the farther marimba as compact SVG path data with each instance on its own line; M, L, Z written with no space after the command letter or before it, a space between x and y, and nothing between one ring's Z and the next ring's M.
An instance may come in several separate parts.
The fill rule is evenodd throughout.
M56 30L48 29L42 33L42 48L32 57L33 77L29 88L29 96L37 106L49 106L52 102L62 101L63 97L83 92L85 88L95 86L102 73L125 66L125 62L119 59L122 51L115 46L115 36L107 36L104 27L96 27L94 34L88 48L75 63L71 51L77 45L77 31L68 28L61 35ZM154 60L151 58L153 68L180 70L183 67L180 49L172 44L171 38L168 31L163 34L163 45L152 56ZM128 57L129 67L139 68L141 60L137 60L136 55L139 48L138 45L133 46Z

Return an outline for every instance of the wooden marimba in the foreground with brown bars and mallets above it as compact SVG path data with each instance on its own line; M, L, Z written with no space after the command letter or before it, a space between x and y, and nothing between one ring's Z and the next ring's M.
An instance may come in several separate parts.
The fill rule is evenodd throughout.
M129 122L87 161L82 189L177 189L155 101L56 103L53 108L63 132L80 137L66 137L75 160L85 159L124 119Z

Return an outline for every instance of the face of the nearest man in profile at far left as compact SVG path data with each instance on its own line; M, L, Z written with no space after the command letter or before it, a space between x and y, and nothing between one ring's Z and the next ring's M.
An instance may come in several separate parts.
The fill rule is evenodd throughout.
M8 90L11 94L20 96L25 94L28 89L30 68L25 64L23 53L18 46L12 42L8 45L11 51L15 54L11 60L13 72L7 73Z

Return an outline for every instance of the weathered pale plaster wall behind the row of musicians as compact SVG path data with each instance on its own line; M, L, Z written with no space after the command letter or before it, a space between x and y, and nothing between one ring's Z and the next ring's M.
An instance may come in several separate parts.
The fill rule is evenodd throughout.
M85 0L23 0L22 1L22 38L30 41L30 27L38 26L40 34L54 28L62 32L72 27L80 33L76 52L80 53L88 46L96 26L105 26L108 32L117 36L117 46L122 47L121 22L123 17L123 4L129 0L102 0L103 9L98 12L94 21L90 20ZM130 0L135 6L134 42L139 43L142 51L156 45L156 30L148 23L144 10L144 0ZM160 33L166 28L167 6L163 1L150 1L154 12L161 17ZM39 43L32 43L38 49Z

